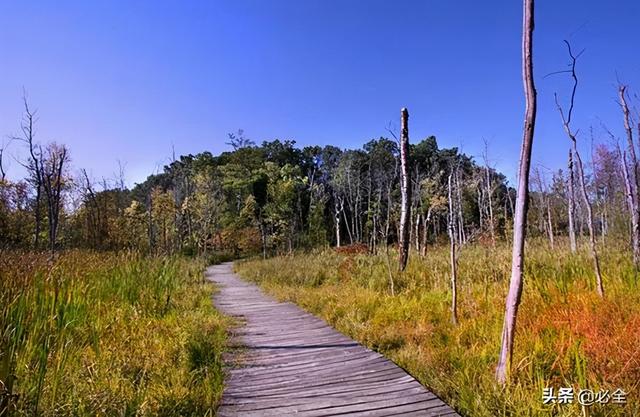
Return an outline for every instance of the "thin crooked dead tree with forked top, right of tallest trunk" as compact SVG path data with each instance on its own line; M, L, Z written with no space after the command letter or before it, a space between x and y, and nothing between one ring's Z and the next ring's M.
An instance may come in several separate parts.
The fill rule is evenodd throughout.
M567 45L567 49L569 51L569 57L571 58L571 78L573 79L573 89L571 90L571 98L569 100L569 110L566 114L562 109L562 106L558 102L558 95L555 94L556 107L558 108L558 112L560 113L560 117L562 118L562 126L564 128L565 133L569 137L571 141L571 146L573 148L573 154L576 157L576 174L578 176L578 184L580 184L580 193L582 194L582 202L585 207L585 211L587 214L587 228L589 230L589 247L591 249L591 258L593 259L593 270L596 275L596 289L598 291L598 295L600 297L604 297L604 288L602 285L602 273L600 272L600 259L598 258L598 249L596 247L596 237L595 231L593 228L593 209L591 207L591 201L589 200L589 195L587 194L587 185L584 179L584 167L582 165L582 158L580 158L580 153L578 152L578 140L577 140L577 131L571 130L571 115L573 114L573 108L575 104L576 90L578 88L578 77L576 75L576 60L577 57L571 51L571 44L568 41L564 41ZM578 54L579 55L579 54Z

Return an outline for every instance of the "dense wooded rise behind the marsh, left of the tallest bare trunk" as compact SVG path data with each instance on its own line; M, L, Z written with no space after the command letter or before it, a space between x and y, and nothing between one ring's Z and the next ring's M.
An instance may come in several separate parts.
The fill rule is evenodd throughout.
M94 181L86 171L72 177L65 147L38 147L25 164L29 178L2 182L2 244L48 247L51 227L59 229L55 247L161 253L268 254L356 243L375 251L384 242L397 241L395 140L381 137L355 150L330 145L301 149L292 140L256 146L240 131L229 135L229 145L233 150L218 156L181 156L131 190L123 178ZM57 226L48 221L56 201L38 192L44 187L38 187L37 177L57 175L53 162L62 151L67 156L59 173ZM446 234L450 172L455 173L462 241L480 232L502 236L509 228L513 197L503 175L456 148L439 149L433 136L410 145L409 156L415 247L424 248Z

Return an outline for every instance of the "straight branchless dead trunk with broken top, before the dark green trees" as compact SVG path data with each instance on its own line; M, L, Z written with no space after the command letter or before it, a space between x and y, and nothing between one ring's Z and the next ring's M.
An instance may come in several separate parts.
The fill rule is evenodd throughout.
M409 174L409 112L400 111L400 238L398 242L400 270L404 271L409 259L409 219L411 218L411 178Z

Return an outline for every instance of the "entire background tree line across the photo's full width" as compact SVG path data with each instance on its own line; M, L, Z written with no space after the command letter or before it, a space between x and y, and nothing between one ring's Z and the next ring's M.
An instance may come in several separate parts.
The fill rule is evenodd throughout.
M301 148L293 140L256 145L239 131L229 134L230 151L173 158L161 173L129 189L121 165L112 178L100 180L73 168L66 146L37 141L35 122L25 100L21 135L9 143L26 151L20 163L27 176L11 181L2 169L3 247L268 256L358 244L377 253L400 242L402 213L403 247L422 255L449 238L458 247L511 238L516 191L492 166L486 141L476 161L457 148L440 148L433 136L410 143L407 135L403 170L402 141L392 131L391 138L372 139L360 149ZM625 170L633 148L622 150L608 129L592 129L592 135L594 130L608 140L593 139L586 174L577 172L573 150L565 169L533 169L527 232L551 247L559 235L573 236L571 242L575 234L587 236L589 224L598 239L628 236L636 242L638 176ZM634 132L625 132L633 141ZM6 158L6 147L2 154ZM577 192L583 177L586 200Z

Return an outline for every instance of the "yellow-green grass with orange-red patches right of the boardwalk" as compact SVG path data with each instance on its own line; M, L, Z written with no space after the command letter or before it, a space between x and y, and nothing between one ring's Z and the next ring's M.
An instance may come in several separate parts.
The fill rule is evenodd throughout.
M450 323L448 248L430 248L424 258L412 255L404 274L394 270L394 297L384 255L324 250L248 260L236 269L393 359L463 415L640 415L640 278L626 252L611 245L604 249L603 301L586 249L571 255L550 250L545 242L528 246L514 378L504 390L496 386L493 371L510 247L463 248L458 326ZM574 403L543 405L544 387L573 387ZM577 404L582 388L623 388L628 404L582 410Z

